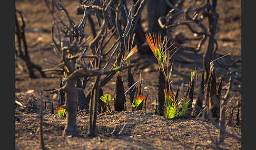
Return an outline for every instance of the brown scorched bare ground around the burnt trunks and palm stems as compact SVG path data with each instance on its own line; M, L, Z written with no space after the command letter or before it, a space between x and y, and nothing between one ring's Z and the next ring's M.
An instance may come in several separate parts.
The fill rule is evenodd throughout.
M200 4L201 1L198 3ZM76 15L78 1L63 1L65 8L71 17L77 23L81 15ZM29 55L31 60L48 69L54 67L45 61L58 63L60 60L52 50L51 42L51 24L53 19L48 12L44 1L16 1L16 8L23 13L26 23L26 40L28 44ZM188 6L184 4L184 8ZM129 5L130 6L130 5ZM56 9L55 9L56 10ZM217 56L231 54L219 62L228 69L222 69L215 66L217 79L223 76L222 95L227 91L228 71L237 72L233 89L231 91L231 105L241 103L241 63L234 62L241 60L241 1L219 1L217 12L220 15L218 31L215 35L218 41L219 49ZM62 14L60 14L64 18ZM142 26L144 31L147 30L147 12L143 10ZM65 20L65 19L64 19ZM96 23L96 22L95 22ZM192 33L180 27L188 40L184 45L195 45L196 40ZM86 30L91 33L90 27ZM194 99L198 95L201 72L204 71L202 66L203 53L206 49L207 42L203 45L200 52L191 52L178 50L174 55L172 87L180 87L179 98L183 94L190 81L190 71L198 68L198 82L195 85ZM215 144L218 135L218 128L210 122L194 119L165 120L163 117L154 114L154 99L157 97L157 62L151 55L137 53L132 58L132 62L137 66L132 69L135 80L139 79L140 71L144 84L143 92L148 95L146 112L131 112L131 107L127 101L126 112L114 112L100 114L97 118L97 136L89 138L86 136L88 130L88 113L80 111L77 113L77 128L81 137L62 137L65 121L58 117L56 109L54 114L44 110L43 131L44 143L47 149L211 149ZM23 68L23 69L22 69ZM41 78L40 74L35 71L37 79L29 79L25 63L15 59L15 100L21 102L23 107L17 106L15 109L15 146L16 149L37 149L38 141L38 110L39 100L47 102L47 105L53 102L54 108L57 101L54 95L41 91L43 89L56 88L59 85L60 73L46 72L47 78ZM127 90L126 72L123 72L124 88ZM92 81L89 82L89 87ZM104 93L114 96L114 78L103 88ZM146 86L147 85L147 86ZM29 93L28 90L33 90ZM27 92L27 93L26 93ZM113 105L113 104L112 104ZM230 114L231 109L227 111ZM234 111L237 113L237 110ZM240 113L241 114L241 113ZM227 116L228 116L227 115ZM241 116L240 116L241 117ZM233 124L227 126L227 130L241 137L241 126L235 125L236 116L233 116ZM127 128L122 134L111 134L115 127L117 132L121 130L124 124ZM224 147L230 149L241 149L241 142L232 137L225 138Z

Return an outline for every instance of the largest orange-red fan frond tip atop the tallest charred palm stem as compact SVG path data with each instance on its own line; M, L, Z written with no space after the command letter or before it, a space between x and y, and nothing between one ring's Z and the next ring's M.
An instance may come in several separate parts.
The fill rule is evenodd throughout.
M146 41L147 44L149 44L149 47L154 53L154 55L155 49L161 49L161 34L158 34L158 36L156 36L156 34L153 34L153 38L151 34L146 34Z

